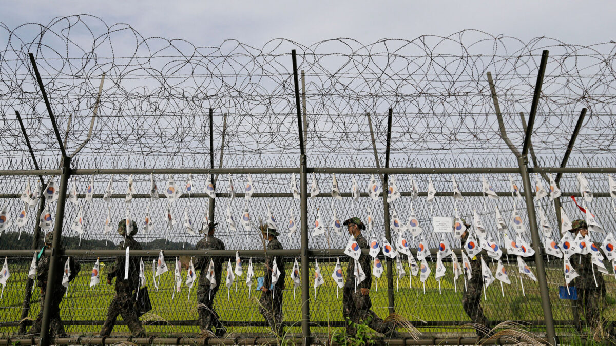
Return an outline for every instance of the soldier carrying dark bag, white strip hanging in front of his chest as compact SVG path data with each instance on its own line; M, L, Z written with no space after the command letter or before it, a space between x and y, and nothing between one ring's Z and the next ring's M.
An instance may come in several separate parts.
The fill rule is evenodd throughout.
M121 236L126 235L126 219L121 220L118 223L118 233ZM126 241L121 242L116 249L126 250L126 247L130 247L130 250L141 250L142 247L137 241L132 238L137 233L137 223L132 222L132 231L126 235ZM103 324L103 328L100 330L100 336L109 336L113 325L115 324L118 315L122 315L122 319L128 325L128 329L131 330L132 336L143 337L145 336L145 329L139 321L139 313L137 312L136 304L136 291L139 287L139 257L130 256L128 262L128 280L124 280L124 267L126 265L126 256L120 255L116 257L116 262L111 267L111 271L107 274L107 284L111 284L113 278L116 279L115 284L115 297L109 304L107 310L107 320Z

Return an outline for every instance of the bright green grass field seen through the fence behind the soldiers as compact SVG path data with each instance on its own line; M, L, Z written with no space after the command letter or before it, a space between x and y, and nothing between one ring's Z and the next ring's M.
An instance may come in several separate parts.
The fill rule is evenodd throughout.
M81 272L78 277L70 283L68 296L63 299L61 305L62 319L78 320L78 321L96 321L104 320L107 316L107 308L113 298L113 286L106 283L105 267L102 269L101 283L95 288L89 288L91 275L91 267L95 260L81 262ZM145 260L144 260L145 262ZM169 264L172 260L168 259ZM150 262L151 263L151 262ZM22 262L23 264L23 262ZM107 268L111 262L106 263ZM315 291L312 289L314 284L314 262L310 265L310 320L312 321L342 321L342 290L338 291L339 296L336 297L336 285L331 279L335 260L333 262L325 262L319 264L322 270L322 275L325 278L325 284L317 289L315 301ZM395 264L394 264L395 265ZM405 264L407 275L397 281L394 278L394 297L395 311L408 318L411 321L469 321L468 316L464 313L461 305L462 291L464 290L464 280L460 276L457 281L457 292L453 284L453 273L451 264L445 264L447 267L447 275L442 278L440 293L439 283L434 280L435 264L429 263L432 275L426 282L426 292L424 294L423 284L419 281L419 276L413 276L411 283L408 279L408 266ZM171 265L172 266L172 265ZM286 265L286 272L291 272L291 264ZM343 267L345 264L343 264ZM224 273L226 265L223 267ZM160 316L164 320L196 320L197 312L195 305L197 304L197 284L193 286L188 299L188 287L182 283L182 291L176 292L172 299L174 289L173 270L161 275L160 289L155 291L152 278L151 265L146 262L147 286L150 290L150 299L152 300L153 310L150 313ZM485 315L490 320L518 320L518 321L537 321L543 320L543 311L541 310L541 300L538 291L537 283L524 280L525 296L522 295L519 276L517 276L516 265L506 265L509 271L511 285L503 284L504 296L501 294L500 281L495 281L487 288L487 300L482 300ZM245 265L246 269L246 265ZM536 272L533 267L533 272ZM256 276L262 275L262 265L255 264L254 267ZM346 268L343 268L346 273ZM492 267L495 270L495 266ZM11 276L4 291L4 297L0 300L0 311L2 312L1 321L18 321L21 313L23 294L25 288L25 278L27 273L26 267L18 268L17 265L10 265ZM198 275L200 273L197 273ZM182 280L185 280L186 271L182 270ZM395 267L394 267L395 275ZM222 280L224 280L224 275ZM245 283L245 275L241 276L236 283L233 283L229 292L229 300L227 300L227 287L222 283L216 296L216 310L224 321L264 321L257 310L257 305L248 299L248 287ZM614 302L614 276L606 275L608 284L608 301ZM412 288L410 287L412 284ZM550 290L550 298L553 306L553 315L555 320L571 320L572 313L570 308L571 301L560 300L558 298L557 286L564 284L564 278L559 267L548 267L548 284ZM384 318L388 314L387 309L387 291L386 291L386 275L383 274L378 280L378 291L376 290L376 280L373 277L372 289L370 296L373 303L373 310L377 315ZM256 280L254 280L251 297L260 297L260 292L255 291ZM30 318L36 318L39 312L39 292L38 288L34 289L32 296L32 309ZM614 320L616 317L614 308L606 309L606 315ZM284 296L283 312L285 321L300 321L301 320L301 292L300 288L296 289L296 297L293 299L293 283L287 277L286 289ZM120 317L118 317L120 319ZM443 332L453 331L456 334L460 331L456 327L447 328L421 328L421 323L416 324L416 327L421 331ZM97 335L100 331L100 326L66 326L67 332L70 334L91 336ZM147 326L148 332L161 334L192 334L198 333L197 326ZM116 326L115 332L128 332L126 326ZM264 332L267 328L258 327L232 327L230 332ZM314 332L327 332L326 327L312 328ZM10 336L17 332L17 327L0 327L0 336ZM299 325L297 328L291 329L291 332L300 332Z

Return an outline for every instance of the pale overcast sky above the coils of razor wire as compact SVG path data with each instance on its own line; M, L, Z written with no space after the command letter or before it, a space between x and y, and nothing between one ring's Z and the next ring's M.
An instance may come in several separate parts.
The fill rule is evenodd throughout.
M182 38L197 46L238 39L259 47L275 38L310 44L330 38L371 42L414 39L463 29L522 41L548 36L589 44L615 39L612 1L15 1L0 22L91 14L128 23L144 36Z

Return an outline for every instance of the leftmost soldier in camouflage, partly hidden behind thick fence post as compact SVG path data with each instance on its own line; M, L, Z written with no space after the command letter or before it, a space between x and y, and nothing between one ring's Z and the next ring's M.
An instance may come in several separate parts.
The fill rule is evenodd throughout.
M51 244L54 241L54 232L51 231L45 235L45 248L51 249ZM36 285L41 288L41 310L39 311L36 320L34 320L34 324L32 328L30 328L29 334L40 334L41 333L41 321L43 321L43 305L45 302L45 295L47 290L47 276L49 273L49 260L51 257L42 256L38 261L38 273L36 275ZM51 337L65 337L67 333L64 331L64 326L62 325L62 320L60 319L60 302L62 302L62 297L64 297L65 292L67 292L67 288L62 285L62 277L64 276L64 264L66 263L66 257L60 257L59 264L55 267L55 287L52 292L52 300L51 300L51 319L49 320L49 335ZM73 281L79 273L79 264L75 263L73 257L69 260L69 267L71 270L71 275L68 278L68 281Z

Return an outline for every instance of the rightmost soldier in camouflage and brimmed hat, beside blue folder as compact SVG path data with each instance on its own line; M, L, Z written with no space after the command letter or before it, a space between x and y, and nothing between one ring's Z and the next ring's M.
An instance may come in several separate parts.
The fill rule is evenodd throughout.
M578 233L582 236L588 235L588 225L585 220L574 220L571 223L575 238ZM606 308L606 282L603 280L603 275L598 270L594 271L593 277L593 255L592 254L573 254L569 257L569 261L578 273L578 277L573 279L573 286L577 289L577 307L582 310L582 313L586 319L586 326L590 328L591 332L599 331L604 328L601 321L601 315ZM596 284L595 284L595 281ZM614 335L612 326L604 329L608 334Z

